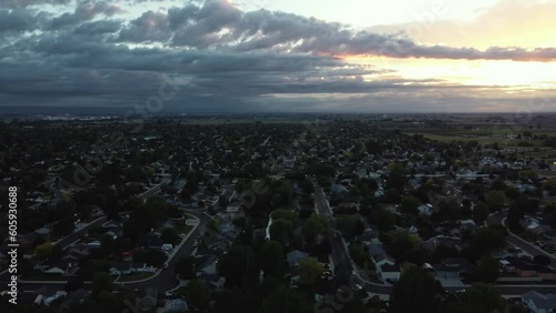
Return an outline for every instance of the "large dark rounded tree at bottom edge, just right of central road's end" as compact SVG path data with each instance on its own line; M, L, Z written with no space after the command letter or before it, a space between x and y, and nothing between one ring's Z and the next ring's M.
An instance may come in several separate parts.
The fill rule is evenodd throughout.
M437 300L437 282L426 270L409 264L391 289L389 312L439 313L440 304Z

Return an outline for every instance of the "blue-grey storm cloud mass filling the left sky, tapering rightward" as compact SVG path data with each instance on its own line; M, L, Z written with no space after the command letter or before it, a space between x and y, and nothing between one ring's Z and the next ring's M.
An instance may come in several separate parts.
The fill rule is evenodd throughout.
M0 7L14 7L10 3ZM406 105L409 102L400 99L411 98L408 94L426 99L466 93L469 87L459 90L439 80L370 79L396 73L348 64L338 55L543 61L556 55L554 49L426 47L291 13L245 12L225 1L146 11L128 21L121 20L121 9L113 1L78 1L61 14L41 11L33 3L38 1L0 9L0 33L8 34L0 42L3 105L130 105L156 94L163 75L172 73L190 80L168 102L173 108L280 110L276 105L299 94L326 98L319 101L329 105L339 101L336 105L341 107L338 103L347 103L341 102L346 99L364 105L385 93ZM330 98L332 93L341 97Z

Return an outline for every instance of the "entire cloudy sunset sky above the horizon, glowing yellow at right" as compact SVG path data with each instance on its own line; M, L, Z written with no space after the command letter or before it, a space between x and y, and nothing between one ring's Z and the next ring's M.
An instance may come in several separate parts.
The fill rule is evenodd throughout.
M556 111L554 12L556 0L0 0L0 107Z

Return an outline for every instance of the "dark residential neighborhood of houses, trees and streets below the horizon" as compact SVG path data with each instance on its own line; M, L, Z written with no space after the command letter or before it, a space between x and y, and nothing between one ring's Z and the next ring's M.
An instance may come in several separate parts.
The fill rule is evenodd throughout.
M29 141L2 152L4 182L21 199L19 301L37 312L121 312L126 303L255 312L286 296L291 312L306 312L350 294L341 312L387 312L406 305L397 299L415 280L407 287L431 284L419 292L436 294L441 312L478 291L509 312L556 310L556 175L544 174L555 170L552 156L523 161L508 148L514 139L431 140L405 130L404 119L168 118L93 147L80 138L128 125L2 125L4 147L14 135ZM39 140L44 129L56 131ZM535 140L544 142L522 139ZM96 173L86 165L95 158ZM89 178L75 180L81 174Z

